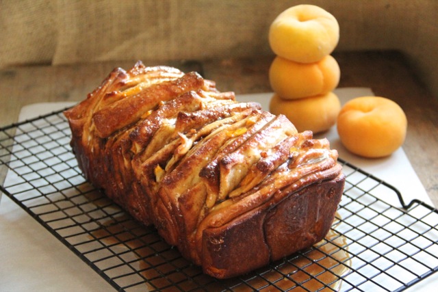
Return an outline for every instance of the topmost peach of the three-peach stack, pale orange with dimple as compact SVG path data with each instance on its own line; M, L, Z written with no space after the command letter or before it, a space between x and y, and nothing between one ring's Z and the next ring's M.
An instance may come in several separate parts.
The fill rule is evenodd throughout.
M298 63L318 62L339 42L335 16L315 5L296 5L270 25L269 44L276 55Z

